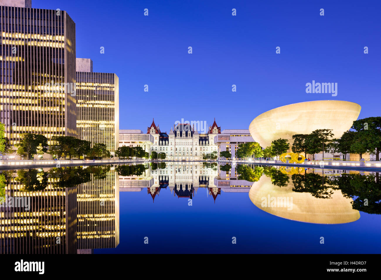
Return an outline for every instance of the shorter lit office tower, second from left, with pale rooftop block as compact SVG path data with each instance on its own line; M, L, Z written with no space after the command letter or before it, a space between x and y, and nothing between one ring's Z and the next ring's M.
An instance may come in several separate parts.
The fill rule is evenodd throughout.
M77 58L76 69L77 137L114 152L119 147L119 78L93 72L91 59Z

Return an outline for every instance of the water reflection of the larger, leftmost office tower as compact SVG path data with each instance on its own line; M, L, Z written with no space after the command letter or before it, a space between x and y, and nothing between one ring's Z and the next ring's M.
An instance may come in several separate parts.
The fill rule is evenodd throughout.
M15 170L5 179L0 254L76 254L77 188L56 188L60 178L48 169Z

